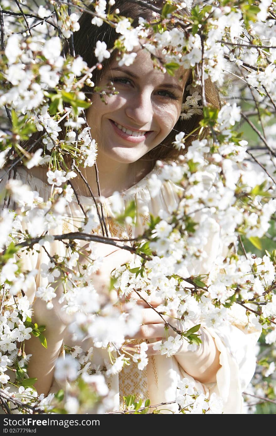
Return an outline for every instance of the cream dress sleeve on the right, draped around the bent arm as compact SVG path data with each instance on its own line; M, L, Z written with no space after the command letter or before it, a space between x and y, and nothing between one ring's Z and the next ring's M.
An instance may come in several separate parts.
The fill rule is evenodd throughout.
M175 204L176 195L181 191L181 188L173 183L167 184L163 188L163 197L166 198L166 203L169 208ZM173 193L174 195L173 195ZM165 197L166 195L166 197ZM215 264L217 256L227 256L228 246L221 242L221 229L215 220L210 220L212 225L209 232L208 241L204 245L204 251L208 253L208 258L204 262L195 260L189 268L189 275L208 274ZM208 222L206 222L208 225ZM191 285L190 285L191 286ZM191 377L184 370L185 368L185 353L187 346L181 347L180 351L174 355L181 369L183 377L194 381L195 388L209 392L213 392L221 397L224 403L224 413L234 414L243 413L243 398L242 392L249 385L256 368L255 345L259 339L261 328L249 322L245 309L235 303L231 310L228 311L228 322L223 322L218 327L212 326L210 320L196 319L192 325L201 324L201 329L198 331L205 344L201 344L201 351L194 351L195 358L199 358L203 364L204 361L210 359L210 352L214 354L213 343L210 340L213 338L215 347L219 351L220 368L216 373L215 382L201 383ZM211 344L211 345L210 345ZM186 354L187 356L187 354Z

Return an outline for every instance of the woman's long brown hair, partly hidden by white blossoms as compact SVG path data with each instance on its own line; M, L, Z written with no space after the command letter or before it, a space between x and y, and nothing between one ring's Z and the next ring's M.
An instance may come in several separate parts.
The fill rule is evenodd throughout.
M164 6L164 0L156 0L150 2L153 6L162 8ZM94 4L94 3L93 3ZM153 17L153 11L147 8L146 6L141 6L137 3L131 3L125 0L116 0L114 6L111 8L111 12L115 9L119 9L120 16L132 18L133 23L132 26L136 27L138 25L138 18L143 17L145 20L150 20ZM89 14L88 11L94 11L94 7L92 4L88 5L87 9L82 12L78 23L80 25L79 31L74 33L74 50L75 55L82 56L83 60L87 63L88 67L96 65L98 60L95 57L95 45L97 41L103 41L106 43L107 49L111 49L114 46L114 42L119 37L119 34L116 33L114 27L110 26L105 21L102 26L98 27L96 25L91 24L92 14ZM185 8L184 14L190 15L189 11ZM172 26L171 26L172 27ZM71 44L72 47L72 44ZM69 52L69 44L65 46L65 53ZM112 58L115 56L115 51L113 51L111 58L102 62L102 70L95 69L93 72L93 82L97 85L100 77L102 76L105 68L109 65ZM185 85L183 101L186 100L189 92L186 90L188 84L192 82L192 75L190 75L187 79L187 83ZM83 92L88 98L91 98L92 88L88 85L85 85L83 88ZM219 92L214 83L211 82L210 78L205 80L205 99L206 102L210 102L212 106L216 108L220 107L220 99ZM152 164L154 165L156 160L161 159L177 159L180 154L185 153L187 151L187 147L191 144L192 140L194 140L198 136L198 132L200 129L199 123L202 119L202 115L194 114L190 119L181 120L178 119L177 123L174 126L174 129L169 133L169 135L165 138L165 140L156 146L153 150L150 150L143 158L147 160L152 160ZM63 126L62 126L63 127ZM179 132L184 132L185 135L189 135L192 131L195 132L187 137L185 140L185 151L176 150L172 145L172 142L175 139L175 135ZM41 135L41 132L39 132ZM208 133L208 128L205 128L202 132L202 137L206 136ZM62 128L61 135L65 135L65 129ZM37 139L36 135L33 135L27 143L24 144L26 146L30 146L31 140L34 141ZM33 151L33 150L32 150Z

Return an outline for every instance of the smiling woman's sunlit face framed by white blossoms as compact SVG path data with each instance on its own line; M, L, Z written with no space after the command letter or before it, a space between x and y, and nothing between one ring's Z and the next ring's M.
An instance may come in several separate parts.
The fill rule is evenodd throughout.
M150 54L143 49L129 67L112 61L100 82L113 82L117 95L94 95L87 113L98 153L116 162L132 163L162 143L181 113L182 96L188 71L174 76L153 68Z

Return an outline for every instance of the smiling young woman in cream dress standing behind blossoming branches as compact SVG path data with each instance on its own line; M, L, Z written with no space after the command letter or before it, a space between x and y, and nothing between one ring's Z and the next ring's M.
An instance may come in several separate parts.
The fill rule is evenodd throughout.
M162 1L155 2L157 6ZM135 26L138 17L151 17L152 11L125 1L116 1L114 8L119 8L124 17L134 18ZM96 41L105 41L107 48L112 48L118 34L108 24L97 27L91 24L91 15L83 13L80 29L75 34L75 53L80 54L88 66L95 65L94 56ZM190 83L189 71L177 71L174 76L154 68L153 61L147 50L140 46L133 49L135 61L130 66L119 65L116 56L102 63L102 70L96 70L93 80L96 85L105 89L109 82L113 82L118 93L106 98L107 104L101 101L99 94L92 95L92 105L87 110L87 123L91 127L92 137L98 143L97 167L99 170L99 184L101 194L105 197L103 209L106 212L109 234L118 238L135 238L143 233L147 227L150 214L159 215L160 210L171 212L178 202L181 187L171 181L163 182L159 193L151 195L147 181L150 176L157 174L160 167L157 160L174 159L177 150L172 145L176 133L194 131L198 126L200 115L194 115L190 120L181 121L182 102L187 94L186 88ZM91 92L91 89L85 89ZM206 81L206 99L218 106L218 96L215 87ZM194 137L193 137L194 139ZM187 141L186 145L189 145ZM33 168L27 173L24 168L18 171L18 176L31 184L33 190L47 200L51 192L51 185L47 183L47 169ZM97 181L93 168L82 170L94 193L97 192ZM85 208L92 205L92 199L87 184L79 175L72 181L79 201ZM119 225L112 221L114 212L112 205L116 197L114 191L120 193L124 204L130 200L136 203L136 226ZM78 219L83 217L82 210L74 200L68 210L68 217L62 225L57 226L56 234L67 233L78 228ZM92 279L95 289L105 293L109 288L110 273L121 265L130 262L133 255L111 245L97 244L97 255L103 257L99 271L93 272L88 279ZM84 249L87 245L84 245ZM204 266L194 269L194 274L208 273L216 256L222 252L219 241L219 229L211 233L204 249L209 252L209 258ZM51 256L64 254L62 242L52 242L48 245ZM34 301L34 319L39 325L46 325L48 348L41 347L36 337L26 341L26 352L32 354L28 365L30 377L36 377L37 392L58 390L58 381L54 377L55 364L63 346L79 345L83 351L89 350L94 344L91 338L76 342L72 331L68 328L71 318L61 310L58 298L62 294L62 286L58 287L57 298L53 300L54 307L47 310L46 303L35 298L36 289L47 282L41 274L41 265L48 264L48 255L41 250L37 256L24 256L27 269L37 268L35 284L27 293L29 300ZM81 259L85 264L85 257ZM143 294L144 295L144 294ZM161 355L154 347L163 337L164 321L160 319L153 308L162 303L162 299L154 298L149 305L135 292L131 296L136 303L143 307L143 322L136 334L130 334L126 340L138 349L141 342L148 343L147 367L142 371L133 362L119 373L106 379L108 386L114 392L113 410L122 409L123 396L136 395L136 399L150 398L151 404L171 403L159 406L161 413L178 411L174 402L177 396L177 384L186 378L196 391L201 391L210 397L216 393L223 401L224 413L242 413L242 390L248 385L255 368L253 344L256 343L259 332L245 329L245 313L233 313L230 327L221 328L221 332L201 323L202 344L197 350L191 351L184 341L177 354L170 358ZM165 320L172 322L176 316L170 311ZM197 324L188 321L187 326ZM177 325L177 324L175 324ZM170 335L175 336L170 329ZM92 363L100 370L106 366L108 354L105 349L94 347Z

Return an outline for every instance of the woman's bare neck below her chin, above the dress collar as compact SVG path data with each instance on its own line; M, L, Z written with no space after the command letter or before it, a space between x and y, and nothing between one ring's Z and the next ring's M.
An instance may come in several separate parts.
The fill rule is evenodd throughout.
M97 160L98 178L101 195L109 197L114 191L125 191L139 182L152 168L152 162L148 160L137 160L133 163L116 162L109 157L99 153ZM95 197L98 197L98 185L96 181L95 167L80 169ZM79 176L75 180L75 189L80 195L89 195L85 182Z

